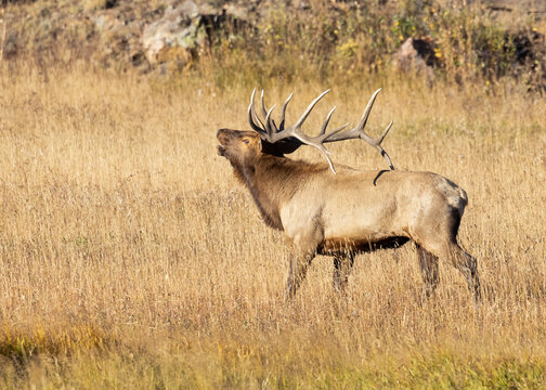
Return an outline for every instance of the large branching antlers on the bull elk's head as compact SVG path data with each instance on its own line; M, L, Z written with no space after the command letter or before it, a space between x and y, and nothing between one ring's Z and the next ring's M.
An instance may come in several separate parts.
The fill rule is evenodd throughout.
M282 108L282 114L281 114L281 122L280 127L277 128L274 120L271 118L271 113L275 108L273 105L269 110L265 108L265 103L263 101L263 90L261 93L261 110L263 116L265 117L264 121L260 119L260 117L256 114L255 110L255 94L256 94L256 89L252 91L252 95L250 96L250 105L248 106L248 121L250 122L250 127L260 134L260 138L263 141L266 141L270 145L275 144L274 152L275 154L285 154L285 153L291 153L296 151L299 146L301 145L310 145L316 147L318 151L321 151L324 156L326 157L326 160L328 161L328 165L334 173L336 173L336 170L334 169L334 164L332 162L332 159L329 157L329 152L324 147L325 142L336 142L336 141L344 141L344 140L352 140L352 139L362 139L366 141L368 144L377 148L381 155L387 159L389 162L390 168L393 170L394 167L392 165L392 161L385 152L385 150L381 147L381 142L384 141L385 136L389 132L392 121L389 123L387 129L384 131L384 133L378 138L378 139L373 139L368 134L364 132L364 127L366 126L367 118L369 116L369 112L372 110L372 106L374 105L375 99L377 94L379 93L380 89L377 90L370 98L366 109L364 110L364 114L359 122L359 125L346 132L341 132L344 128L349 126L349 123L346 123L328 133L326 133L326 128L328 127L329 120L332 118L332 115L334 114L334 110L336 107L332 108L332 110L328 113L326 116L326 120L324 121L321 132L316 136L309 136L304 134L301 131L301 127L308 116L311 114L311 110L314 108L316 103L321 99L324 98L326 93L328 93L330 90L326 90L323 93L321 93L314 101L309 104L307 109L303 112L301 117L290 126L289 128L285 128L285 114L286 114L286 106L290 102L290 99L292 94L288 96L288 99L285 101L283 104ZM255 119L258 121L258 123L255 121Z

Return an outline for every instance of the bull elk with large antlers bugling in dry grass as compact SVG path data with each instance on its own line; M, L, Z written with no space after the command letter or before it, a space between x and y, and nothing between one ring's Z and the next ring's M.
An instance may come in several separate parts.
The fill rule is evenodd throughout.
M301 127L318 95L301 117L285 126L286 100L278 127L265 108L262 118L255 108L255 92L248 106L252 131L218 130L218 154L225 157L235 177L248 187L264 222L284 231L296 253L290 259L285 297L296 294L316 255L334 257L334 288L342 290L356 253L396 248L408 240L417 246L425 290L430 295L439 283L438 259L450 261L466 277L474 299L480 282L477 261L457 244L457 231L467 205L467 194L446 178L431 172L394 170L381 142L392 121L378 139L365 131L376 91L356 127L344 125L326 132L334 107L316 136ZM390 170L362 171L334 167L324 144L361 139L378 150ZM320 150L327 164L310 164L285 157L301 145Z

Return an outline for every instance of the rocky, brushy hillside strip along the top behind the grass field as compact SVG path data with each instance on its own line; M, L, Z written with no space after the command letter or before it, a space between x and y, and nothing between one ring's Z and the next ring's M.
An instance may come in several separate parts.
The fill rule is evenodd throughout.
M283 77L394 64L430 80L511 76L541 89L544 14L544 0L2 0L0 58L165 73L206 57Z

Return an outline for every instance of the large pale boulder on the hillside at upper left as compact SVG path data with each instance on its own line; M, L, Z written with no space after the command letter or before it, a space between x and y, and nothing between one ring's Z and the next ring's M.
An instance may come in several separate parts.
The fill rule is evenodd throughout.
M187 63L192 50L202 46L206 31L200 27L199 8L193 1L169 5L164 16L144 28L142 47L150 64L167 61Z

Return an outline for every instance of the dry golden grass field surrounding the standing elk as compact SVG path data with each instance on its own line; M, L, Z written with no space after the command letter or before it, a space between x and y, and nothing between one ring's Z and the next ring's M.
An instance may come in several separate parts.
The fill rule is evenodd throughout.
M448 264L425 299L413 245L359 256L344 296L317 257L286 304L289 247L216 154L251 88L0 66L0 388L546 386L546 101L393 75L269 102L294 90L290 120L330 87L308 132L333 105L354 123L382 87L368 129L395 119L396 168L468 192L478 309ZM363 142L329 148L385 168Z

